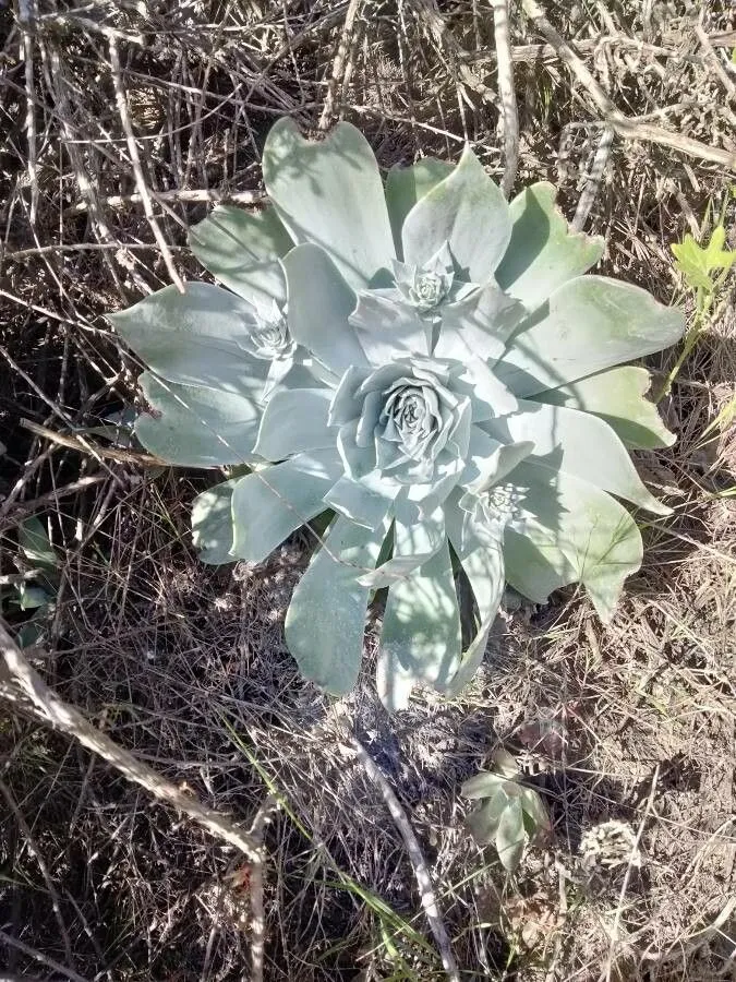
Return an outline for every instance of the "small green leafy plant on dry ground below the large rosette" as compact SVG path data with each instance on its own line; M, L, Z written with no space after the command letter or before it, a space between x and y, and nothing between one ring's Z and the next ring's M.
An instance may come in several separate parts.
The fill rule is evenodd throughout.
M482 770L464 782L463 798L481 804L468 816L468 827L479 846L494 846L503 865L512 872L524 847L550 833L544 803L534 788L520 783L521 771L514 756L498 751L494 769Z

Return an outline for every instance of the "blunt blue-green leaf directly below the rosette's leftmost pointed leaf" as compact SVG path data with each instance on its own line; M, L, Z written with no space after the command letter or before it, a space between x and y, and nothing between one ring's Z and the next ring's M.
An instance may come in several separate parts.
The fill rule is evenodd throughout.
M138 382L153 412L135 422L141 443L180 467L221 467L256 459L261 407L246 396L177 385L143 372Z

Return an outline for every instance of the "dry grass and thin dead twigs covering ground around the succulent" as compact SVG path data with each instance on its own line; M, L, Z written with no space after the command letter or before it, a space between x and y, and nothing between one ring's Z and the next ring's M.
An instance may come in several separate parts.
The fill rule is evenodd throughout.
M102 314L170 275L144 205L130 197L141 188L128 124L138 184L154 192L153 218L181 276L197 275L182 247L206 204L180 192L257 191L272 120L289 112L316 127L326 97L386 166L420 153L457 158L469 139L500 176L490 5L365 0L346 31L353 7L0 9L0 574L14 571L15 523L36 510L62 556L51 654L36 662L47 681L142 761L246 825L276 795L265 826L267 980L443 978L399 833L346 749L336 707L300 679L283 646L307 541L293 537L255 571L213 572L188 534L189 502L208 478L81 455L16 420L94 427L136 398L136 366ZM728 3L699 7L584 0L547 2L546 13L627 117L734 153L736 77L721 46L736 45L736 20ZM596 110L516 4L511 43L518 182L553 180L572 215L602 135ZM615 137L587 227L606 236L605 272L669 300L668 244L727 195L717 164ZM640 455L676 513L647 530L645 565L611 627L560 594L498 621L461 699L418 697L388 719L369 656L340 707L422 843L463 979L733 977L736 434L727 417L703 434L733 400L735 379L732 302L663 406L678 444ZM539 742L551 723L562 750ZM515 879L470 843L458 798L499 744L528 753L554 821L552 840ZM248 978L249 871L230 847L10 708L0 781L0 962L10 977ZM640 869L582 869L581 837L608 819L639 836Z

